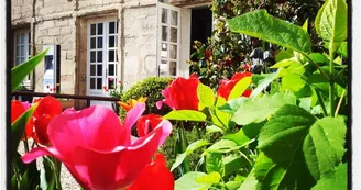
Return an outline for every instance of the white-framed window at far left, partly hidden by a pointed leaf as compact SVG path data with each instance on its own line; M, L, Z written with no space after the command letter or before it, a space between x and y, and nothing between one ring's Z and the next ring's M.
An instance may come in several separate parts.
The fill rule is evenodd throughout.
M20 36L20 41L18 41L18 36ZM24 36L24 42L21 42L21 37ZM30 30L29 29L24 29L24 30L17 30L14 32L14 66L18 66L24 62L26 62L30 57L31 57L31 52L30 52L30 46L31 46L31 34L30 34ZM29 42L30 41L30 42ZM22 55L22 46L24 46L24 55ZM19 47L19 48L18 48ZM20 52L19 52L20 51ZM19 59L20 62L18 62ZM21 62L21 59L23 59L23 62ZM23 85L28 88L30 88L30 75L26 76L26 78L23 80Z

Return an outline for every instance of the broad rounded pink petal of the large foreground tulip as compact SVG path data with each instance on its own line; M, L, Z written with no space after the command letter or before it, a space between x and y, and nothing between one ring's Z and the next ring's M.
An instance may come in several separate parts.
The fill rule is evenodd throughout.
M119 145L119 139L127 136L122 128L112 110L90 107L81 112L67 110L54 118L47 127L47 134L52 145L62 155L67 155L74 153L77 146L112 150Z

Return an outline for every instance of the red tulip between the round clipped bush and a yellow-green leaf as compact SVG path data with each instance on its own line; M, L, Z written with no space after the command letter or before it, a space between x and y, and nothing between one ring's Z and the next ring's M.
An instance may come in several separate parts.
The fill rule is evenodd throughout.
M163 101L158 101L156 107L160 109L162 104L167 104L173 110L198 110L198 88L199 79L192 75L189 79L178 77L162 91Z

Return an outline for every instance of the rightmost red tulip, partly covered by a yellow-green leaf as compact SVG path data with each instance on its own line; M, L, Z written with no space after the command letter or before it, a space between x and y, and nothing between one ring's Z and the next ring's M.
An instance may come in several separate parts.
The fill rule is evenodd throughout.
M222 80L220 82L220 86L218 88L218 94L226 100L228 100L229 94L231 93L232 89L237 85L238 81L240 81L244 77L251 77L252 74L244 71L244 72L237 72L233 75L233 77L230 80ZM252 93L252 90L245 90L242 94L242 97L250 97Z

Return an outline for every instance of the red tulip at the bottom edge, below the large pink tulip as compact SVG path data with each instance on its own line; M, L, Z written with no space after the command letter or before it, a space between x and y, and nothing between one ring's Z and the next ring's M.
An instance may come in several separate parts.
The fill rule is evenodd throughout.
M127 190L174 190L174 177L165 165L163 154L157 154L155 160L147 165L134 183Z

